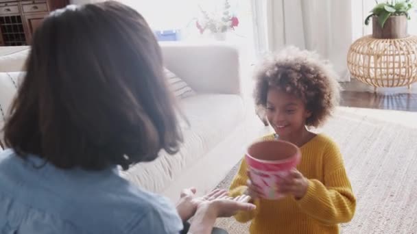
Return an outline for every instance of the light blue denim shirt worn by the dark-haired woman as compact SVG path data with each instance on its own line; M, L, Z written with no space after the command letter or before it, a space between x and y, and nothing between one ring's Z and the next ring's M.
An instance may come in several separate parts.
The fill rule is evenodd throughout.
M0 233L179 233L175 207L117 168L61 170L0 152ZM43 166L44 165L44 166Z

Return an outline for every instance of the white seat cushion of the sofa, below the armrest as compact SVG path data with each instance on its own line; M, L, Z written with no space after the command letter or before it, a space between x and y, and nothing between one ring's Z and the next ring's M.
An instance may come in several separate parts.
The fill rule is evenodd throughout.
M180 152L163 152L155 161L121 172L123 177L152 192L163 192L176 176L204 157L244 120L243 101L235 94L197 94L180 103L189 120L189 125L182 123L184 144Z

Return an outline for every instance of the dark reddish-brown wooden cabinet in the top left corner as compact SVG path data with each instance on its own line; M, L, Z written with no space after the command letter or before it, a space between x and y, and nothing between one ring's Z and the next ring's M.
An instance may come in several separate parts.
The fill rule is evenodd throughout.
M69 0L0 0L0 46L30 44L49 12L68 4Z

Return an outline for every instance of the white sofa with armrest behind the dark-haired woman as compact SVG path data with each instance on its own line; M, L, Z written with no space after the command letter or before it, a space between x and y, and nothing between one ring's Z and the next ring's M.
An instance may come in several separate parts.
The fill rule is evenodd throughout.
M241 159L249 139L238 51L225 44L160 45L165 66L197 92L180 100L189 120L189 125L182 122L184 145L176 155L163 152L155 161L121 174L176 200L184 187L196 187L200 194L212 190ZM21 53L21 64L14 57L10 69L2 66L4 59L0 57L1 70L14 71L22 66L25 53Z

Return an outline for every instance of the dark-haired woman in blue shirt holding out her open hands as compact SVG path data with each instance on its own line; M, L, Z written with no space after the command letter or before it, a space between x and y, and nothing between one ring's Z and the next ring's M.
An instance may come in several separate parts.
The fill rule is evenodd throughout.
M118 166L182 142L160 47L132 8L106 1L51 13L26 68L0 153L0 233L178 234L191 216L190 232L211 233L217 216L253 209L221 190L185 190L175 209L119 177Z

